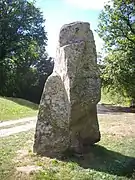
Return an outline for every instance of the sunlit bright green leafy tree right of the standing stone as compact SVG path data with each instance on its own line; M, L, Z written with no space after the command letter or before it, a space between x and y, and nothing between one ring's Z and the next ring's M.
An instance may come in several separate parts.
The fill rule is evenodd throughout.
M102 66L103 86L135 99L135 2L108 3L100 13L97 32L107 54Z

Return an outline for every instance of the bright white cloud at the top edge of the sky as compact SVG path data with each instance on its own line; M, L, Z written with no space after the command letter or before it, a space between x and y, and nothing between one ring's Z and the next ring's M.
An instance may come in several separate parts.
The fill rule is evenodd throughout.
M71 4L80 9L97 9L100 10L104 7L104 4L108 0L65 0L68 4Z

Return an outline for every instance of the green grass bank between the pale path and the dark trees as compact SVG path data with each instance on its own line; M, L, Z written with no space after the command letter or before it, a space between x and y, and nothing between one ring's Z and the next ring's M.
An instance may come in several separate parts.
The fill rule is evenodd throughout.
M38 105L19 98L0 97L0 121L35 116Z

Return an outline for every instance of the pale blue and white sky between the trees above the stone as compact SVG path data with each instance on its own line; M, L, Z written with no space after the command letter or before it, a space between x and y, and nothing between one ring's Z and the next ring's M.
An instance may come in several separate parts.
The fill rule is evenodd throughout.
M36 0L36 6L43 12L47 32L49 56L56 55L56 46L60 28L67 23L84 21L90 23L94 33L97 52L101 50L102 40L94 31L97 28L98 16L107 0Z

